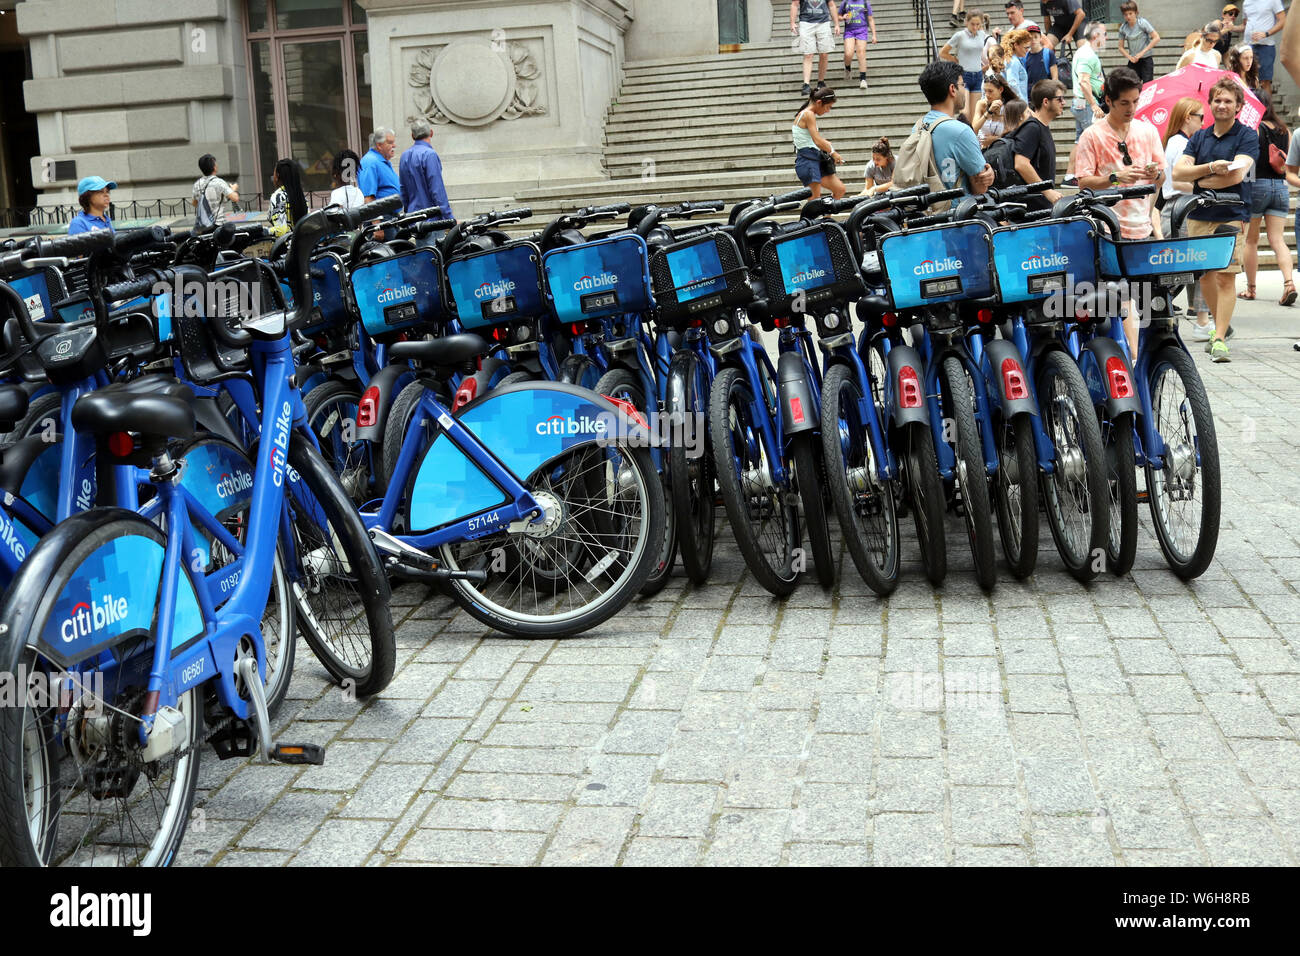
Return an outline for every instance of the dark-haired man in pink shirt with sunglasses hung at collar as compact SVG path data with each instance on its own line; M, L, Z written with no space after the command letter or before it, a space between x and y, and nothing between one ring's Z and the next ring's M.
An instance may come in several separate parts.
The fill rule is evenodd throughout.
M1079 189L1102 190L1135 183L1156 183L1165 179L1165 151L1160 144L1160 131L1145 120L1135 120L1141 81L1127 66L1106 74L1102 95L1110 112L1101 122L1092 124L1079 137L1075 153L1075 174ZM1145 239L1154 232L1150 208L1152 196L1124 199L1114 209L1119 216L1119 230L1126 239ZM1138 354L1138 319L1132 303L1124 319L1128 351Z

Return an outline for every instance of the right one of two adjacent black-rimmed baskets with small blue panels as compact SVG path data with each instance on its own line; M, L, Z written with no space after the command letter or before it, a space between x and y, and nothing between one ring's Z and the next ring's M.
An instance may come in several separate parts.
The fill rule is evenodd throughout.
M763 246L759 256L774 316L807 313L818 302L848 302L866 286L849 237L836 222L815 222Z

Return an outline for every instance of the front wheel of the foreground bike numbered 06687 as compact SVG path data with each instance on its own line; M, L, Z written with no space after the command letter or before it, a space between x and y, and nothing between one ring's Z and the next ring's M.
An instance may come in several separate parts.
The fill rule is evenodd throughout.
M295 436L289 464L296 472L285 490L299 632L330 678L368 697L389 685L396 662L389 579L356 506L320 453Z

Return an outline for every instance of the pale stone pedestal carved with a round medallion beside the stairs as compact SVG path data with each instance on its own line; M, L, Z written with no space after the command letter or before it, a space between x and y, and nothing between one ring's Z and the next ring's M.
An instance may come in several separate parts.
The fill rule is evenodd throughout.
M360 0L374 120L433 124L452 200L606 178L632 0Z

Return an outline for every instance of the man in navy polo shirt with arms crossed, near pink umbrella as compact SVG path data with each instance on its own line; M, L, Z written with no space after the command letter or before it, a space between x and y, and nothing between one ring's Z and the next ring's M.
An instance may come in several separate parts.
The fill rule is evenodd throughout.
M1188 235L1210 235L1217 232L1236 233L1232 261L1226 269L1201 276L1201 295L1214 316L1214 332L1205 351L1214 362L1231 362L1227 337L1231 334L1232 307L1236 304L1236 273L1242 271L1245 225L1251 221L1252 166L1260 157L1260 138L1238 120L1245 96L1236 79L1223 77L1210 87L1210 112L1214 125L1197 130L1174 165L1175 182L1191 182L1193 193L1214 190L1219 195L1238 195L1245 206L1236 208L1197 209L1187 217Z

